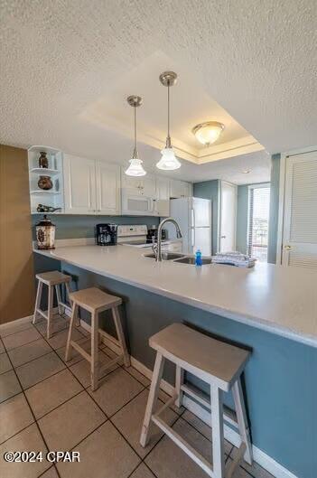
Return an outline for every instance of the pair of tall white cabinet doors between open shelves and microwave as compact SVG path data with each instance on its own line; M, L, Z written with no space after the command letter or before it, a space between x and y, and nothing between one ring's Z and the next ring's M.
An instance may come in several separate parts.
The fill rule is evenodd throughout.
M119 214L119 167L64 155L66 214Z

